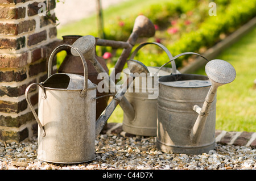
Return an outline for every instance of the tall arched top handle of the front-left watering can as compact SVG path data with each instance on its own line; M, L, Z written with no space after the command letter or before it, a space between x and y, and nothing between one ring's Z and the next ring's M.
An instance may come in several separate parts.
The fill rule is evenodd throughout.
M84 89L80 92L80 96L81 97L85 97L87 92L87 87L88 87L88 68L87 68L87 64L85 61L84 56L82 55L82 53L80 52L80 50L78 48L73 47L72 45L68 45L68 44L63 44L63 45L59 45L59 47L56 47L52 53L51 56L49 57L49 62L48 62L48 78L52 75L52 60L53 58L56 56L56 54L58 52L60 52L60 50L67 50L67 47L73 48L74 50L76 50L76 52L79 54L81 60L82 60L82 65L84 66Z

